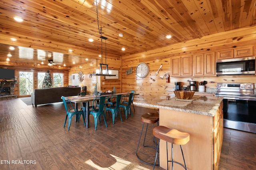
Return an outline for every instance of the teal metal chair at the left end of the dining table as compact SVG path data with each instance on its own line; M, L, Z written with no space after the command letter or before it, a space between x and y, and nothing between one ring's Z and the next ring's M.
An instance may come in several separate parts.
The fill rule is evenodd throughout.
M71 121L72 121L72 117L74 115L76 115L77 119L78 119L78 123L79 123L79 118L82 115L83 121L84 121L84 119L85 119L84 111L82 109L75 109L74 106L72 105L71 101L68 98L66 98L64 96L61 96L61 98L63 100L64 106L65 106L65 109L66 109L66 119L65 119L63 127L65 127L66 121L67 121L67 118L68 118L68 131L69 131L70 124L71 124ZM69 105L71 106L71 109L70 109ZM85 121L84 121L84 126L85 126Z

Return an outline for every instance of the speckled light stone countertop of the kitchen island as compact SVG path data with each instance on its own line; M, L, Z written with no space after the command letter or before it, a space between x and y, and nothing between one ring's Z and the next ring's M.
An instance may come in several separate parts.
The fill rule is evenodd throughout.
M183 111L187 113L194 113L200 115L214 116L220 107L222 102L222 97L212 97L212 96L201 96L193 100L188 106L168 106L163 104L158 104L162 102L162 99L150 99L150 100L133 100L133 104L142 107L151 108L162 108L176 111ZM172 102L172 100L169 100Z

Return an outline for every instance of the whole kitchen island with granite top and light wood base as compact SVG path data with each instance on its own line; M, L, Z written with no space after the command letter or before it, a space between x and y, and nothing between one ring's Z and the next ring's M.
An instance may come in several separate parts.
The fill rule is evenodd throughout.
M188 170L218 170L223 139L222 98L193 96L189 101L151 99L134 100L133 104L159 109L159 125L190 134L190 141L182 146ZM171 160L169 144L168 150L168 160ZM159 155L160 166L166 169L165 141L160 141ZM184 164L177 145L174 145L174 160ZM183 168L174 164L174 169Z

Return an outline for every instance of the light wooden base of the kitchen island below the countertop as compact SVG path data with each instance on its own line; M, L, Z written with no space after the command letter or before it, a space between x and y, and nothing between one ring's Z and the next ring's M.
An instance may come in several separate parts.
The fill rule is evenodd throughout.
M190 134L190 141L182 145L188 170L218 170L223 138L223 104L214 117L160 108L159 124ZM174 160L184 164L179 145L174 145ZM167 168L166 141L160 141L160 166ZM168 160L171 144L168 143ZM171 163L169 163L171 167ZM184 170L174 164L175 170Z

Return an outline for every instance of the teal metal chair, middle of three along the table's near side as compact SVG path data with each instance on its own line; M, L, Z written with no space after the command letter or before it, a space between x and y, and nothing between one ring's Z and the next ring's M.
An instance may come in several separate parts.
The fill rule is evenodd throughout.
M111 111L112 113L112 120L113 120L113 125L115 123L115 117L117 117L118 112L121 118L121 121L123 121L122 116L121 116L121 111L120 111L120 102L121 102L122 94L114 95L111 97L111 99L108 101L108 106L106 107L106 113L107 111Z

